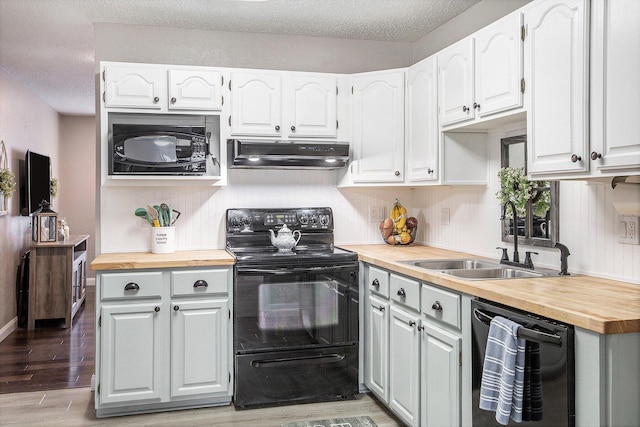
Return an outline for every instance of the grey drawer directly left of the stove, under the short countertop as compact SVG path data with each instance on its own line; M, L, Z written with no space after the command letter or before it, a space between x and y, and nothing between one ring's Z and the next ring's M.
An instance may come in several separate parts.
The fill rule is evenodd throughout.
M171 272L171 295L226 294L229 270L190 270Z

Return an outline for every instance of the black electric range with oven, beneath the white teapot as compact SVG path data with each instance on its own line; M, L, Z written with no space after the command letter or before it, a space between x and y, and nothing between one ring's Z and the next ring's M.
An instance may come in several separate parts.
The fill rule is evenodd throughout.
M271 245L286 224L288 253ZM358 259L334 247L330 208L229 209L234 404L252 408L358 393Z

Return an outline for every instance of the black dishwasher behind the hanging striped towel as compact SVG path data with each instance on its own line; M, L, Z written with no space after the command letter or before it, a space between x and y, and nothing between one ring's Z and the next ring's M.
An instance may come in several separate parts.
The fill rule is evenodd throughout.
M522 325L519 329L519 337L537 343L539 346L540 372L542 374L542 419L523 421L518 425L574 426L574 327L484 300L472 301L471 313L473 426L501 425L496 421L494 412L482 410L478 406L489 324L495 316L502 316Z

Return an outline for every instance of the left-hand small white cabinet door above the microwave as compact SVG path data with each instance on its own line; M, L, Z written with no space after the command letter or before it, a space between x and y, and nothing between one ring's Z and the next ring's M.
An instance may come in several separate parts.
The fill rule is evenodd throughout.
M105 67L104 104L108 108L161 109L167 105L166 71L154 67Z

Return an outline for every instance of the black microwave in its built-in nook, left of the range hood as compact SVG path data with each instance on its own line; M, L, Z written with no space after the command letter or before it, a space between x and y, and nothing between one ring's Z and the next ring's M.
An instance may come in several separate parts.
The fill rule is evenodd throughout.
M113 114L109 174L212 175L217 141L217 116Z

